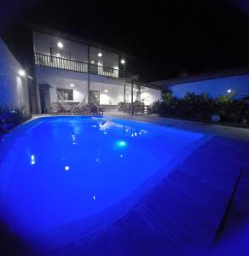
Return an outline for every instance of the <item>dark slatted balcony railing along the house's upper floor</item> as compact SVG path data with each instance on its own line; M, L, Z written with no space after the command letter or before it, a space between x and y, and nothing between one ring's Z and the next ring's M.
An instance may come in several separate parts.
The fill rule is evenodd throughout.
M35 64L42 67L55 67L64 70L70 70L81 73L97 74L106 77L119 78L119 69L111 67L103 67L96 64L88 64L87 62L71 61L61 57L43 55L35 53Z

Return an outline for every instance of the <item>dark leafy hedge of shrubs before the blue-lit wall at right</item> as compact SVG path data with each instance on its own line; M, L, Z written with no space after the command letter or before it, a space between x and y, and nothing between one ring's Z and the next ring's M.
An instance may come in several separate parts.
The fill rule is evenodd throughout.
M218 96L212 99L206 93L196 95L187 92L178 99L173 96L171 90L163 90L163 102L159 105L158 113L165 117L178 117L187 119L211 120L213 114L217 114L220 120L229 123L248 123L249 120L249 96L235 100L234 94Z

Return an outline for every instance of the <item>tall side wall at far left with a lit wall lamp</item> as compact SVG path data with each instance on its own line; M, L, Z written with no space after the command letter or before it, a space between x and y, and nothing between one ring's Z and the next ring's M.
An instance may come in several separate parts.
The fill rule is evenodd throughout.
M0 108L24 107L30 113L27 80L19 76L20 69L20 63L0 38Z

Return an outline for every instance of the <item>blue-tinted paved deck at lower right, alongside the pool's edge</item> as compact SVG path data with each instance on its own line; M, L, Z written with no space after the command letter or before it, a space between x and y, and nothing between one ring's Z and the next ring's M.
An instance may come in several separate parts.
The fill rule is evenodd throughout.
M211 138L125 217L100 234L62 247L56 253L129 256L210 253L240 169L249 170L248 155L249 143Z

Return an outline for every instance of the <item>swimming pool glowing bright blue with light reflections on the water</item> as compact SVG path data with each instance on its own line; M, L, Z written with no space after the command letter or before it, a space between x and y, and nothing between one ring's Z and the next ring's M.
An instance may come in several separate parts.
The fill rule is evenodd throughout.
M34 119L1 145L1 218L24 237L84 223L170 171L202 137L108 117Z

